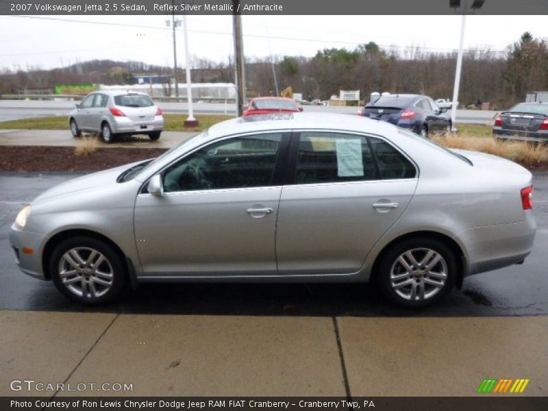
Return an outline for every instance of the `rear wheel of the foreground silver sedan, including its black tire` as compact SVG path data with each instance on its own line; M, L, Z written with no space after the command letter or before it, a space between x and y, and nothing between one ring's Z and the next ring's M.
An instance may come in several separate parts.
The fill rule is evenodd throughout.
M432 266L431 271L427 270L427 262L423 266L409 264L413 265L413 270L409 270L399 260L400 256L404 256L404 253L412 251L414 260L421 263L421 260L427 256L427 250L435 253L430 262L434 262L434 258L437 258L436 254L440 257L440 260ZM408 261L408 256L404 257ZM445 279L440 279L444 271ZM398 242L388 249L382 256L378 271L374 275L381 292L390 302L406 308L421 308L438 303L447 297L456 284L458 264L455 253L443 242L432 238L417 237ZM438 283L437 286L430 284L434 281ZM409 284L403 286L404 283ZM396 286L400 287L395 288ZM412 288L416 290L414 298L412 297ZM420 298L421 288L423 299Z

